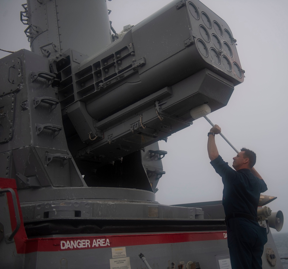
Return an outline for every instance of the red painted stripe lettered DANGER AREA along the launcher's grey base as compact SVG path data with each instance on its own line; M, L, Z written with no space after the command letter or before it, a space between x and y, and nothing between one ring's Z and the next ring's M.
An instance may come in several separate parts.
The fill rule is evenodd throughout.
M226 231L178 232L178 233L161 233L161 234L121 234L121 235L109 235L109 236L100 235L100 236L75 236L75 237L27 239L23 224L22 213L20 210L20 203L16 190L15 180L0 179L0 188L13 188L16 193L21 220L20 229L14 236L17 253L31 253L36 251L96 249L105 247L107 248L107 247L122 247L122 246L136 246L136 245L168 244L168 243L226 239ZM11 225L12 228L15 228L16 227L15 211L10 193L7 193L7 200L10 210Z

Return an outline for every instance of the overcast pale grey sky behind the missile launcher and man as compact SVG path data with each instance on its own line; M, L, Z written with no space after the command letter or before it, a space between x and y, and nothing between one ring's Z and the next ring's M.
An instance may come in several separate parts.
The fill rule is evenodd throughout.
M21 4L25 0L0 1L0 48L17 51L29 48L20 22ZM169 0L112 0L109 15L116 32L124 25L135 25ZM81 2L83 3L83 2ZM228 105L209 118L220 125L222 133L240 150L247 147L257 154L255 169L264 178L264 193L278 198L268 206L284 213L281 232L287 224L287 9L288 1L274 0L203 0L207 7L227 22L237 39L237 51L246 71L244 83L235 87ZM8 53L0 51L0 58ZM168 151L159 180L156 200L163 204L194 203L222 199L223 185L209 163L206 150L207 132L211 126L205 119L160 142ZM232 165L236 152L216 137L220 155ZM272 229L273 230L273 229ZM276 230L274 230L276 231Z

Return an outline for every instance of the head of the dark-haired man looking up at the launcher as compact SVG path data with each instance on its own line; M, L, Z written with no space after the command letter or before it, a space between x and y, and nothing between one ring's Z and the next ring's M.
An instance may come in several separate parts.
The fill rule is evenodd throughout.
M251 169L256 163L256 154L247 148L241 148L241 151L233 158L232 166L236 171L243 168Z

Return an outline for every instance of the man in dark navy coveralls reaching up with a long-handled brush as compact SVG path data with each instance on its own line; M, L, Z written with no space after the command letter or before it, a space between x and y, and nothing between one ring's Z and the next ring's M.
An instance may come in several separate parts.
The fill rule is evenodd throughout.
M215 125L208 133L208 154L211 165L224 184L222 204L227 225L227 243L232 269L262 268L262 254L267 242L266 228L259 225L257 207L260 192L267 190L262 177L253 168L256 154L242 148L233 158L232 169L224 162L215 144Z

